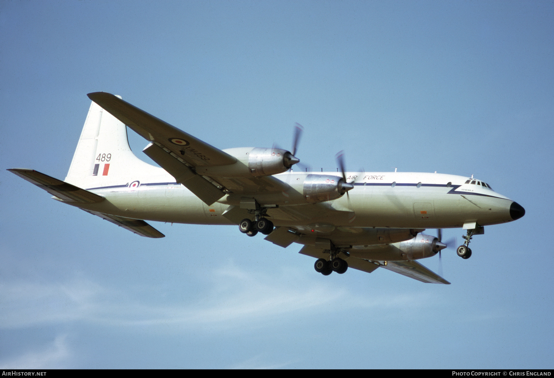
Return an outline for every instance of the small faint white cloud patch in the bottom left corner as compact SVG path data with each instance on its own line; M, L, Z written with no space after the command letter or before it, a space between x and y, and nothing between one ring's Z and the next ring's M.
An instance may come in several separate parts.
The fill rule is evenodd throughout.
M64 369L69 357L66 335L59 335L42 350L0 361L0 369Z

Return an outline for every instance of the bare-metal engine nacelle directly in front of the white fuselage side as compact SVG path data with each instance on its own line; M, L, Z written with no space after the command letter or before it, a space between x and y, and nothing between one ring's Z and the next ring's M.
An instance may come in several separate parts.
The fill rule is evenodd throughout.
M335 200L354 186L342 177L332 175L307 175L303 193L307 202L316 203Z

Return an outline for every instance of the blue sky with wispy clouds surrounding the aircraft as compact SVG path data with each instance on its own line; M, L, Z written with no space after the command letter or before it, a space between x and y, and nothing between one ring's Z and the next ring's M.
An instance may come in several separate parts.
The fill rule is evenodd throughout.
M553 16L546 1L1 2L0 366L552 367ZM474 174L526 215L468 260L443 253L452 285L324 277L299 245L236 227L141 238L5 171L63 179L93 91L222 149L289 147L299 122L312 167L345 150L351 170Z

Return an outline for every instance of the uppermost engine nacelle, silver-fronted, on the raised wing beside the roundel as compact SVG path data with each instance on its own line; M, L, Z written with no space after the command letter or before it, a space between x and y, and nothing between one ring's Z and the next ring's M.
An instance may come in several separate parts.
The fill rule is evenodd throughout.
M197 167L196 172L225 178L270 176L283 173L300 162L290 151L283 149L239 147L223 151L236 157L237 162L219 167Z

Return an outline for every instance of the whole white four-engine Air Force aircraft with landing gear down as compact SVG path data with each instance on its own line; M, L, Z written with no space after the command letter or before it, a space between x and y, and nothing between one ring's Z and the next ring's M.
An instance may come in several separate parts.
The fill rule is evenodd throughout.
M93 100L65 181L14 168L55 200L141 236L164 235L143 219L238 224L281 247L303 244L324 275L348 267L378 267L426 283L449 282L415 260L446 244L426 228L462 227L460 257L484 226L511 222L523 207L476 178L416 172L294 172L293 152L240 147L219 150L109 93ZM127 129L150 142L143 150L160 167L137 158Z

